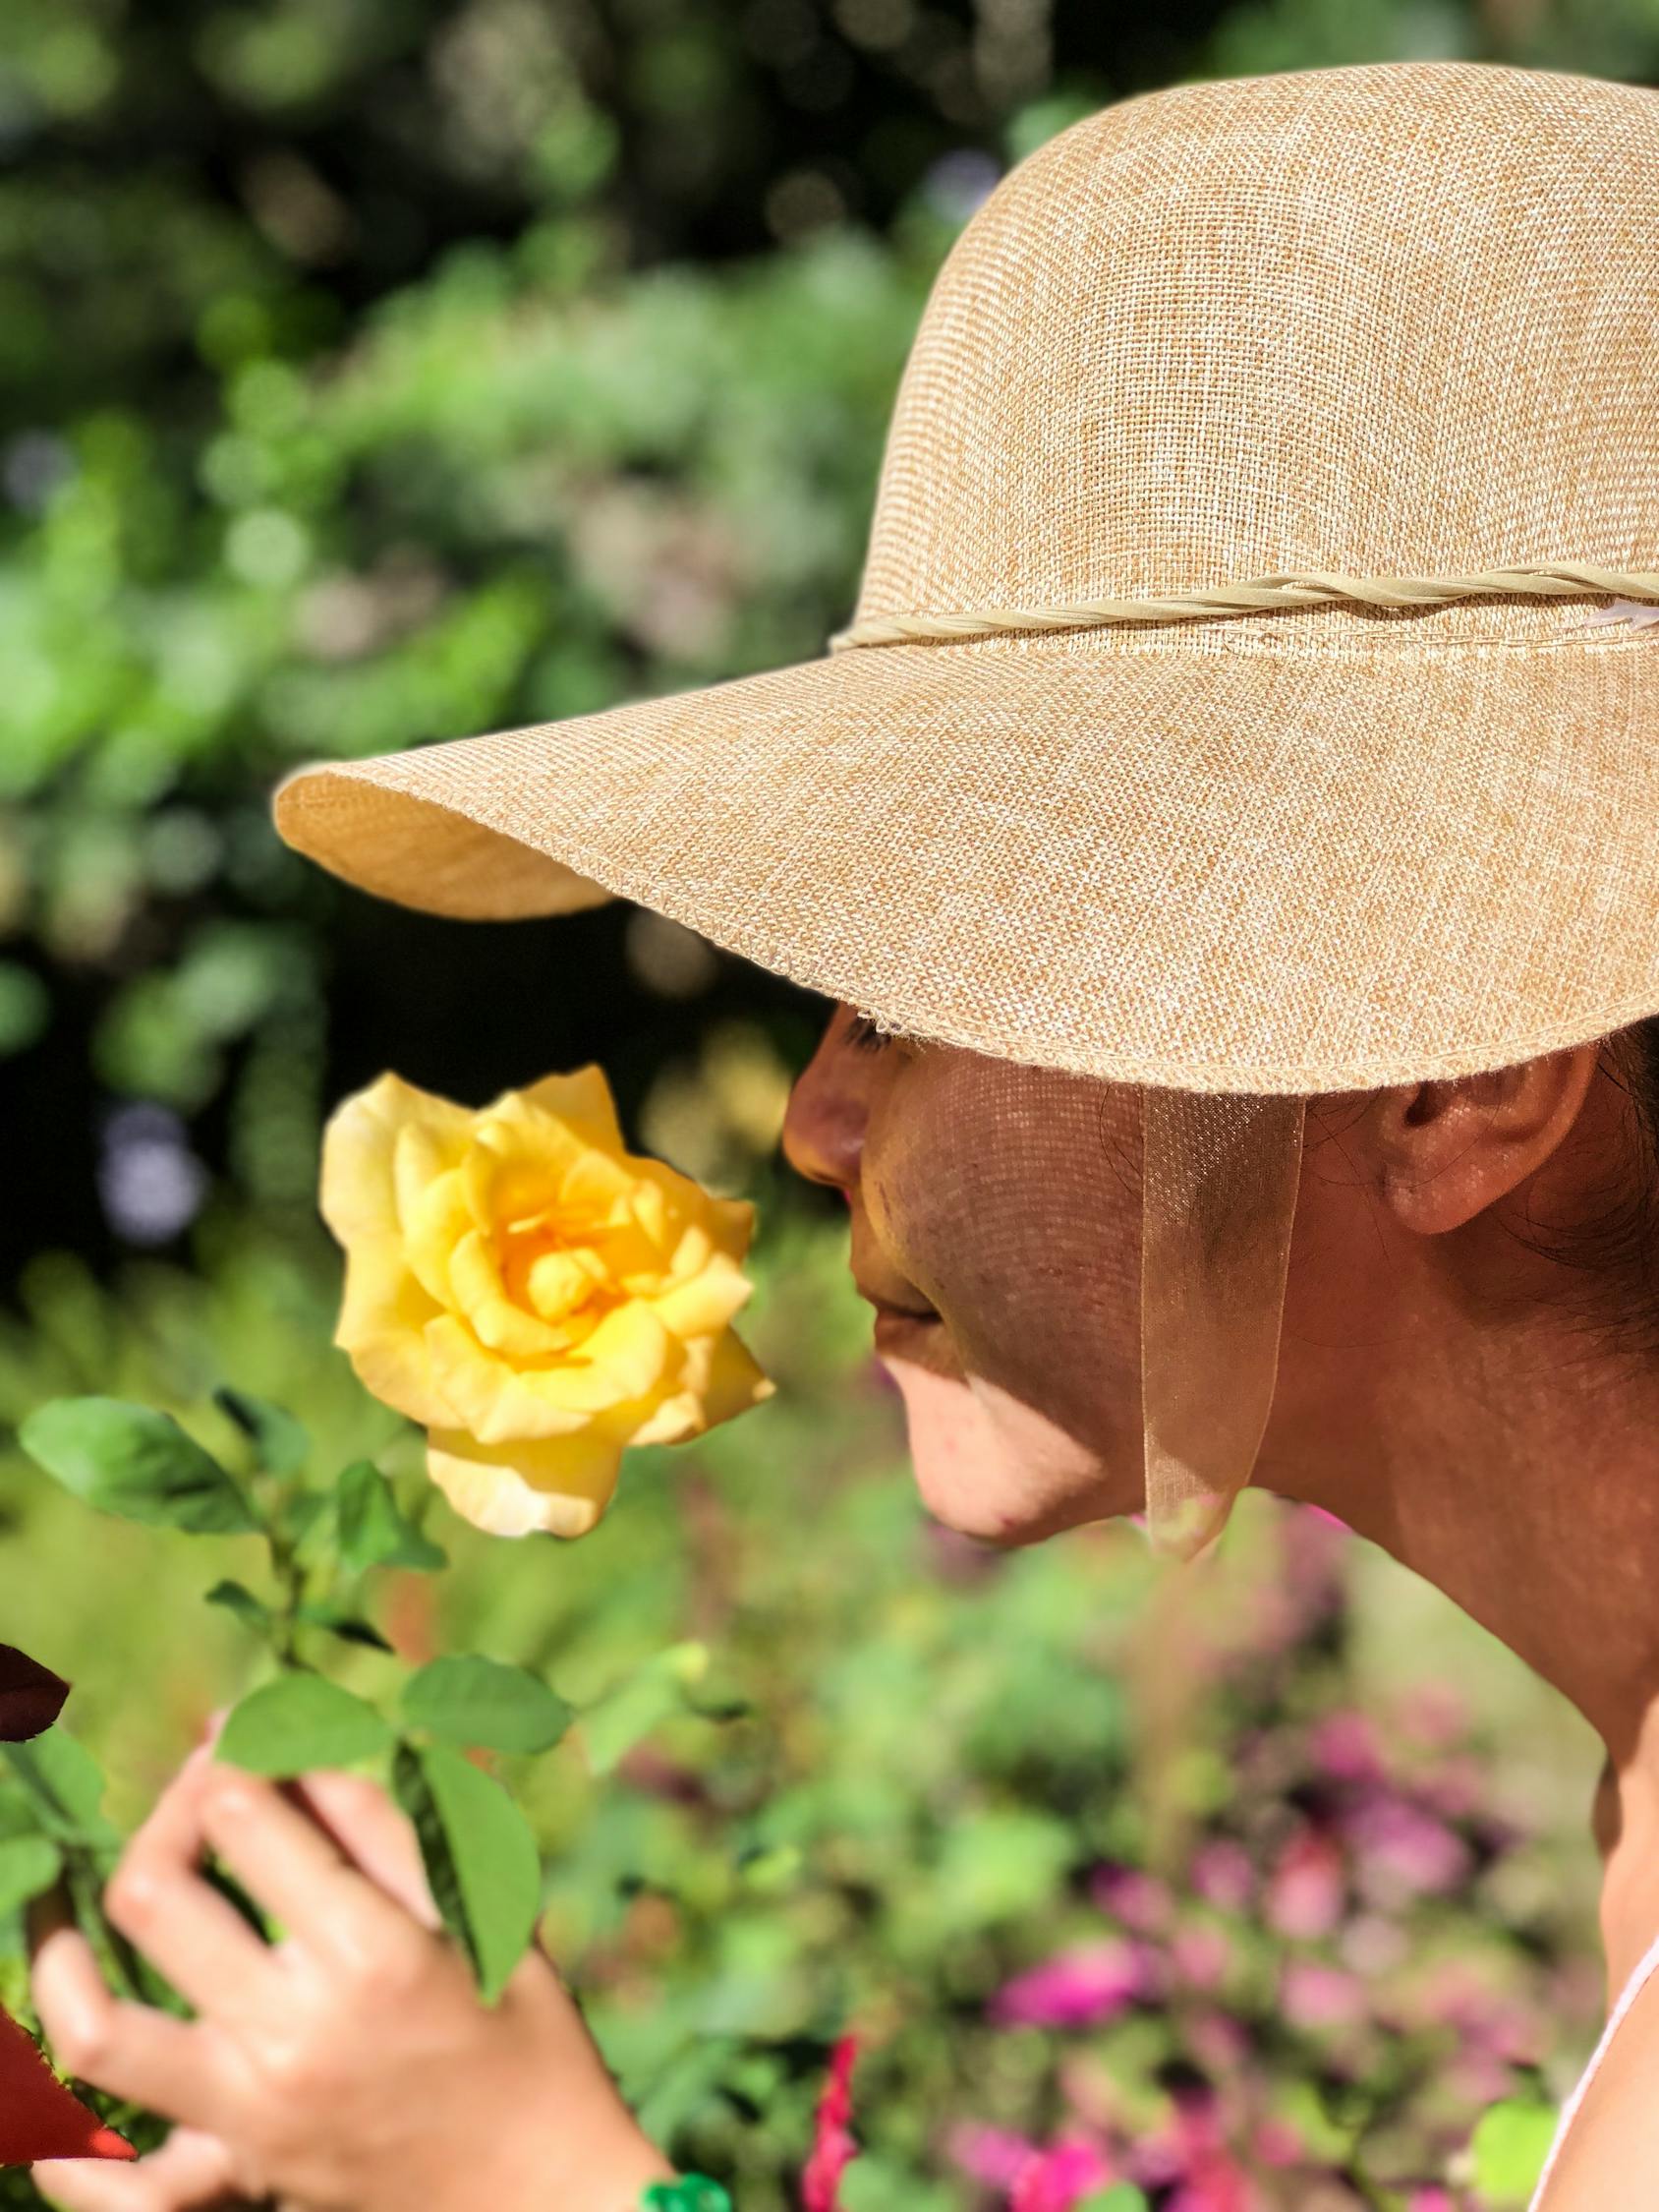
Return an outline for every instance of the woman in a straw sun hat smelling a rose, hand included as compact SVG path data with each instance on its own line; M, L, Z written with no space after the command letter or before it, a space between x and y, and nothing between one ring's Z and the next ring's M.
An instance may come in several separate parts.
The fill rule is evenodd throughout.
M785 1148L940 1520L1186 1555L1256 1480L1579 1705L1624 2004L1546 2212L1659 2199L1657 197L1659 97L1586 77L1108 108L953 248L836 653L279 796L385 896L635 896L836 1000ZM385 1801L310 1803L197 1754L131 1847L195 2024L42 1947L64 2059L184 2121L44 2183L641 2201L553 1966L482 2013Z

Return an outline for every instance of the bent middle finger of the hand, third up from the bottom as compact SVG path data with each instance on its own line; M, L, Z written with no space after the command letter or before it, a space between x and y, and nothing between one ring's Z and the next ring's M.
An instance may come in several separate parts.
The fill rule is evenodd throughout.
M122 1854L104 1909L199 2013L234 2022L270 2008L279 1973L270 1947L201 1876L212 1772L206 1752L186 1759Z

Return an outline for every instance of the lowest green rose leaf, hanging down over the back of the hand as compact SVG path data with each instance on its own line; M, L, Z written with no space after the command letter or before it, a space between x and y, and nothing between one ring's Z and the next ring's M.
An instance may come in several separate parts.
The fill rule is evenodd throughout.
M392 1787L420 1838L445 1927L493 2004L535 1936L542 1860L500 1783L442 1743L400 1743Z

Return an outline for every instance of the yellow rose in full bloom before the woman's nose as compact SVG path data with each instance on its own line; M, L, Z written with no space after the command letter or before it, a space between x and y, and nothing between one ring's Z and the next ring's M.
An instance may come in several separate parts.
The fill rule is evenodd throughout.
M493 1535L586 1535L624 1444L772 1396L730 1329L754 1208L624 1152L597 1066L478 1113L383 1075L332 1115L321 1197L345 1248L334 1343Z

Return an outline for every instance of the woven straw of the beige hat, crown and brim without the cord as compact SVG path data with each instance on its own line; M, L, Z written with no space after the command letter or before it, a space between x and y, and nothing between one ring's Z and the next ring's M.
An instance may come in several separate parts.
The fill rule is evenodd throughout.
M1104 108L933 285L854 628L1659 571L1655 206L1659 95L1593 77L1409 62ZM276 821L414 907L622 894L1011 1060L1473 1073L1659 1011L1659 624L1586 628L1601 604L858 644L301 770Z

